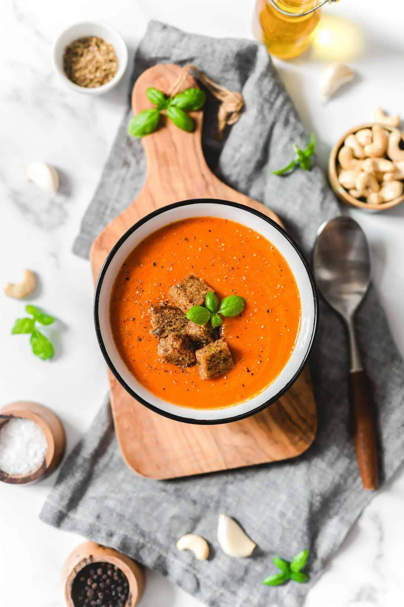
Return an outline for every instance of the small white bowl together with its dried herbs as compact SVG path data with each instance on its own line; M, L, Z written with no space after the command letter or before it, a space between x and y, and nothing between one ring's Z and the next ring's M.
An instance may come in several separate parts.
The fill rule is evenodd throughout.
M53 64L72 90L101 95L118 84L127 67L127 47L115 29L102 22L70 25L53 47Z

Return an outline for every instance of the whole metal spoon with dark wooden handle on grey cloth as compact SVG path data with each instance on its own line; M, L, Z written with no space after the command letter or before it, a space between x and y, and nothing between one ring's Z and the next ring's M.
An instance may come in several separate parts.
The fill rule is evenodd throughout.
M348 328L351 351L349 401L356 456L363 486L377 489L375 414L353 323L371 275L368 242L359 224L351 217L335 217L323 224L315 240L313 265L324 299L342 316Z

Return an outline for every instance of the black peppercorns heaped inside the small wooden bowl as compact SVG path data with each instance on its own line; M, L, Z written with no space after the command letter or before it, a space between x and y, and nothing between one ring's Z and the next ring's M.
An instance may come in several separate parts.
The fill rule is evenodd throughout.
M128 596L126 575L110 563L90 563L73 580L72 601L75 607L124 607Z

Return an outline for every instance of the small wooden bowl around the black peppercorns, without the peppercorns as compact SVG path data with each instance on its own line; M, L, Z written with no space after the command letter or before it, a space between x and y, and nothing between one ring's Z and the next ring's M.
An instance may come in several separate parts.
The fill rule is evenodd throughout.
M110 563L126 575L129 583L129 595L124 607L135 607L143 594L144 570L132 558L114 550L101 546L93 541L86 541L77 546L69 555L62 571L64 584L64 600L67 607L76 607L72 599L72 586L81 569L91 563Z

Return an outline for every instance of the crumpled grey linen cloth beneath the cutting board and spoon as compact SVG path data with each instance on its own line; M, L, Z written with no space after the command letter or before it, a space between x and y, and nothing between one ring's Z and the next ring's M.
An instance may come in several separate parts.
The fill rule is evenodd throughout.
M318 168L288 177L271 174L287 164L292 143L305 133L264 47L237 39L189 35L151 22L135 58L133 81L158 62L195 63L215 81L240 90L243 115L221 144L214 139L217 106L206 107L204 152L226 183L277 212L309 256L318 226L338 214ZM126 135L128 109L95 197L82 222L75 252L87 256L99 231L126 205L144 180L140 141ZM404 458L403 365L374 290L366 297L357 328L365 368L379 405L385 478ZM303 603L326 561L372 493L362 488L348 436L348 348L338 317L321 306L311 357L318 407L318 435L300 458L183 480L136 476L121 459L109 406L104 404L59 474L42 520L113 546L157 569L211 607L295 607ZM251 558L229 558L218 547L217 518L237 519L258 544ZM178 552L189 532L212 546L209 561ZM272 557L291 559L311 551L311 582L278 588L261 585L277 572ZM163 606L162 606L163 607Z

